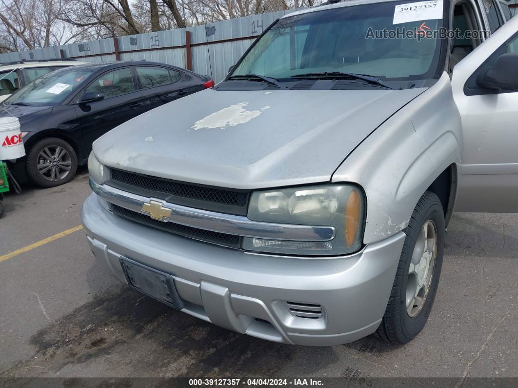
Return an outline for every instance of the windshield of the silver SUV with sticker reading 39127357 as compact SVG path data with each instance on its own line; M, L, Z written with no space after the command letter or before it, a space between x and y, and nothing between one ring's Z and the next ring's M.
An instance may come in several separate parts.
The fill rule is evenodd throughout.
M389 81L433 78L440 40L422 35L442 27L442 3L375 3L280 19L244 56L232 76L283 79L344 72ZM397 31L407 35L398 36Z

